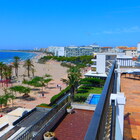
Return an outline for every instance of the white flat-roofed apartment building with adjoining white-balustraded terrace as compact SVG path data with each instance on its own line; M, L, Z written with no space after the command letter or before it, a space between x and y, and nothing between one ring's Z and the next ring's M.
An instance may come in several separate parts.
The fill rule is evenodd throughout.
M92 59L93 64L91 65L91 70L85 76L106 78L115 60L118 61L121 67L134 67L136 65L133 57L127 56L125 53L97 53L96 57Z

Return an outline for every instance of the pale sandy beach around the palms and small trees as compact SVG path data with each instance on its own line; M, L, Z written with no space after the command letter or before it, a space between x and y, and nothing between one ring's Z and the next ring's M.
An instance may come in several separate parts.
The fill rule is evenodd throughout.
M41 94L39 93L39 90L38 90L39 88L36 90L34 89L29 93L31 97L30 101L27 101L24 99L15 99L13 106L32 109L41 103L48 104L50 103L51 97L60 92L60 88L57 87L57 84L61 85L62 89L66 87L66 85L62 83L61 78L67 78L67 68L62 67L60 65L61 64L60 62L57 62L54 60L50 60L46 62L45 64L37 63L37 60L41 58L42 56L44 56L44 54L38 54L32 59L32 62L34 64L35 76L44 76L45 74L50 74L52 76L53 80L48 84L48 87L46 86L44 88L44 91L45 91L44 97L42 97ZM19 77L17 79L18 82L14 83L13 86L22 85L23 75L27 75L27 70L25 69L25 67L23 67L23 65L24 65L24 62L20 62L20 66L18 70ZM13 75L15 75L14 70L13 70ZM31 73L31 76L32 76L32 73ZM25 78L28 79L28 77L25 77ZM0 84L0 94L4 93L3 92L4 88L6 88L6 86L2 87L2 85ZM22 96L22 95L17 94L16 96Z

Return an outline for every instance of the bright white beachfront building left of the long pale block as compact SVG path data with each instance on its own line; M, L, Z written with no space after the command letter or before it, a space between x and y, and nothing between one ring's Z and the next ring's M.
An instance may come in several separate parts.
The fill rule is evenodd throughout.
M47 48L47 52L51 52L54 56L64 56L64 47L50 46Z

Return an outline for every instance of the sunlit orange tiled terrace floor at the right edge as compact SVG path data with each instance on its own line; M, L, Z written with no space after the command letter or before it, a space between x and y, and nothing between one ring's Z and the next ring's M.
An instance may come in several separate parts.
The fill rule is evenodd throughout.
M121 77L121 92L126 96L124 139L140 140L140 78Z

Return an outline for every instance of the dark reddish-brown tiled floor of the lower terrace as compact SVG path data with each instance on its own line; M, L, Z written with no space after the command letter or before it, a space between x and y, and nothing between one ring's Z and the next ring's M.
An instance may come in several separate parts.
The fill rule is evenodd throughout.
M57 140L84 140L93 111L75 110L68 114L54 130Z

